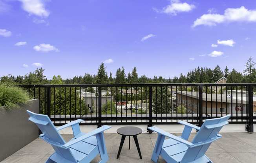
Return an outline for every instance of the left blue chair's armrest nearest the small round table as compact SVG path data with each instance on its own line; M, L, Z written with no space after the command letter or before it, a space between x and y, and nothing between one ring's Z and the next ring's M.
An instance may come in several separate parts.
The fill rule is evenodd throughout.
M82 140L84 140L84 139L86 139L86 138L89 138L89 137L91 137L91 136L93 136L93 135L99 134L99 133L103 132L104 130L107 130L107 129L110 129L110 128L111 128L111 126L104 125L104 126L98 128L98 129L96 129L96 130L93 130L93 131L91 131L91 132L88 132L87 134L84 134L83 136L80 136L80 137L77 138L77 139L73 139L73 140L69 141L68 143L62 145L62 147L64 147L65 149L67 149L67 148L69 148L71 145L74 145L75 143L78 143L78 142L80 142L80 141L82 141Z

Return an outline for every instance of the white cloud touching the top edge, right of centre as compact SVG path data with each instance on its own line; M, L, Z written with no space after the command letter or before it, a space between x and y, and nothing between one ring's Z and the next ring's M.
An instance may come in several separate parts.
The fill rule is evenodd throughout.
M181 3L179 0L172 0L170 5L167 5L162 10L154 9L157 13L166 13L177 15L177 13L189 12L195 8L195 5L188 3Z

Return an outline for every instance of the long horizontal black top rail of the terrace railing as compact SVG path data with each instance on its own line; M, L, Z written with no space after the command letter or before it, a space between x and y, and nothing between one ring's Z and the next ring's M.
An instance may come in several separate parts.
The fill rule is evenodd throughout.
M62 85L53 85L53 84L45 84L45 85L18 85L21 87L196 87L196 86L256 86L256 83L137 83L137 84L62 84Z

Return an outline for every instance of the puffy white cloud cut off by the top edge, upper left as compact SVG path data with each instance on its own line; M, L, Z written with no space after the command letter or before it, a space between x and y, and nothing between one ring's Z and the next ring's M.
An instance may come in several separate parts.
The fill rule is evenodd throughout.
M49 11L44 7L42 0L19 0L22 2L22 8L29 14L34 14L36 16L48 17Z

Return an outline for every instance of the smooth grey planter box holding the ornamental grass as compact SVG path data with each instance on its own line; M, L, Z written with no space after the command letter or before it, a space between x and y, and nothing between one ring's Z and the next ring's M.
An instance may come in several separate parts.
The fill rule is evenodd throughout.
M26 110L39 113L39 100L11 110L0 107L0 161L38 138L38 128L28 120Z

